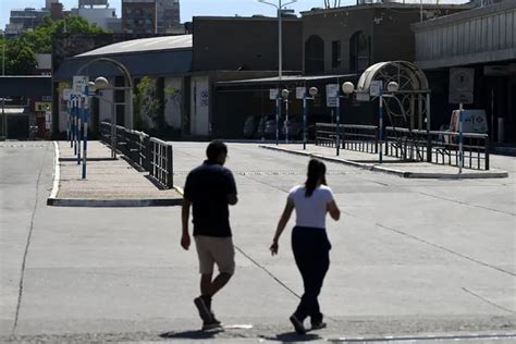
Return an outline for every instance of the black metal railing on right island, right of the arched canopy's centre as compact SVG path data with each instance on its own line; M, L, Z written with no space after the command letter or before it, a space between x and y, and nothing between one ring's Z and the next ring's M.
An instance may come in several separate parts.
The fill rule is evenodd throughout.
M426 161L458 167L459 134L456 132L419 131L385 127L385 156L404 161ZM463 133L463 167L489 170L489 136Z

